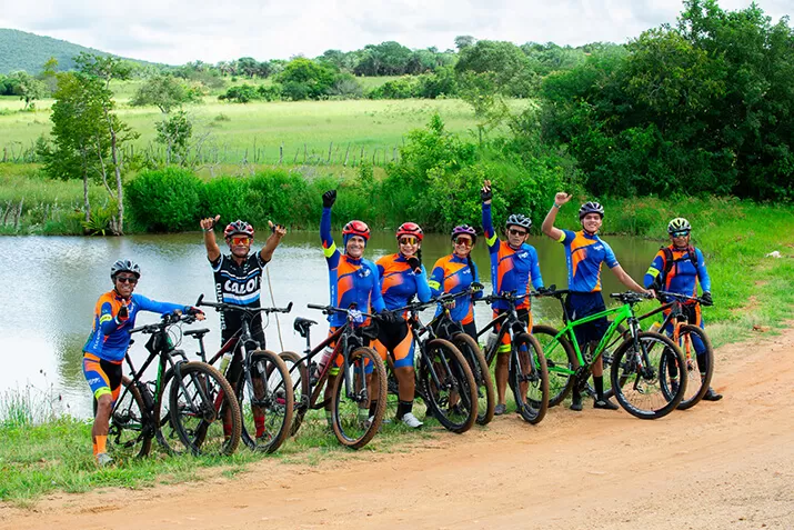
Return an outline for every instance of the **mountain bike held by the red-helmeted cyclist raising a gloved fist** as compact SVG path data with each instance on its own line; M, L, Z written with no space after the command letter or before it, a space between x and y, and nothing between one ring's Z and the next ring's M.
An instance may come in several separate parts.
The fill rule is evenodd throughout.
M284 351L280 356L289 366L295 393L295 412L291 433L295 434L309 410L331 408L331 427L339 442L361 449L378 433L386 410L386 372L380 356L369 344L378 337L376 326L366 322L372 314L355 308L308 304L323 314L344 313L346 321L315 348L311 348L311 327L314 320L297 318L294 329L306 340L304 356ZM313 361L328 353L326 362ZM333 369L339 373L331 374ZM336 370L333 370L336 371ZM324 398L321 398L323 389ZM371 401L375 410L370 410Z

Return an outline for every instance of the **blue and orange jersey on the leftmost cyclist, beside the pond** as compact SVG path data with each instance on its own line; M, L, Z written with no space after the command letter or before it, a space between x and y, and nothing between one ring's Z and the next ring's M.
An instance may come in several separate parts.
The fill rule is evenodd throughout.
M135 327L139 311L151 311L165 314L175 310L185 311L190 306L158 302L142 294L132 294L127 301L129 318L119 320L119 310L124 300L113 290L105 292L97 301L93 317L93 329L83 346L83 351L93 353L105 361L120 361L130 346L130 330Z

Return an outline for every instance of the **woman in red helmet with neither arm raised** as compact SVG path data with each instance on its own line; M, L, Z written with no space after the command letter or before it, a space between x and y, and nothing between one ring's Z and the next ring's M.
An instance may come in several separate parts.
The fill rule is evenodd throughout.
M404 222L398 228L398 252L376 261L381 292L386 309L406 306L414 296L420 301L430 300L428 276L422 266L422 239L424 233L415 222ZM416 374L413 368L413 334L404 316L396 316L379 324L375 350L386 360L390 351L394 358L394 376L398 379L399 404L396 419L409 427L422 427L413 416L413 397Z

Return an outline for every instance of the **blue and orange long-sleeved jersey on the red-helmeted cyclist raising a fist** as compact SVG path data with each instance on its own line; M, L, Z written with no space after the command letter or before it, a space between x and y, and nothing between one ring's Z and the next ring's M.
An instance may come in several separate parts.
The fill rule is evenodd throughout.
M331 306L348 309L355 303L356 309L364 312L385 309L381 286L378 281L378 268L365 259L352 259L336 249L331 237L331 209L323 208L320 220L320 239L328 263L329 284L331 289ZM343 313L329 314L332 327L344 326Z

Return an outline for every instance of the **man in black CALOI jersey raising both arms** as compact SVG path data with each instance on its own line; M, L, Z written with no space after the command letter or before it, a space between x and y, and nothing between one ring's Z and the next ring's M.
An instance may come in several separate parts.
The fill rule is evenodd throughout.
M207 248L207 259L210 261L215 280L215 297L219 302L231 303L243 308L260 308L260 292L262 287L262 271L273 258L275 248L281 242L281 238L287 233L287 229L281 224L273 224L268 221L271 234L264 242L264 247L259 252L251 253L254 230L245 221L237 220L230 222L223 230L223 239L229 246L229 253L221 253L221 249L215 241L213 227L220 219L205 218L201 220L201 230L204 232L204 247ZM241 311L221 312L221 346L231 340L242 328L243 313ZM259 347L264 349L264 329L262 318L257 316L251 321L251 336L259 342ZM234 357L227 369L227 380L232 388L242 372L242 353L240 349L234 350ZM265 434L264 416L257 408L254 410L254 423L257 426L257 438ZM224 421L224 429L231 430L229 421Z

